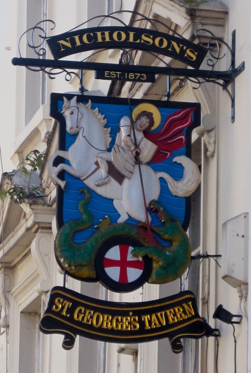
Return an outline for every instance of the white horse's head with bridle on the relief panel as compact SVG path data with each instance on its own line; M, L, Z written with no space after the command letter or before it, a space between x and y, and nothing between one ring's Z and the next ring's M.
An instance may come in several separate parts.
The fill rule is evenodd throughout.
M77 96L72 100L68 101L64 97L64 105L62 113L66 118L66 130L69 134L75 135L79 131L79 122L82 118L82 113L79 110L79 104L77 103Z

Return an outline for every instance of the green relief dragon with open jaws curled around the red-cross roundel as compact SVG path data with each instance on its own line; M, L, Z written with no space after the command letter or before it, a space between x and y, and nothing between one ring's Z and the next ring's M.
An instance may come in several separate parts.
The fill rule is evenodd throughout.
M90 201L90 192L82 189L85 197L79 202L79 211L82 217L66 223L56 237L56 257L61 267L74 277L94 280L95 255L101 245L111 237L132 237L137 239L142 246L135 247L132 255L144 257L148 255L153 261L153 270L149 279L151 284L165 284L179 278L187 269L191 259L191 246L187 234L182 229L177 218L172 217L159 202L152 201L150 209L157 211L158 218L163 226L150 226L142 223L131 225L127 223L110 224L106 217L97 225L98 231L86 242L76 244L73 242L75 232L89 228L93 223L93 216L87 209ZM161 245L155 235L169 241L171 246Z

